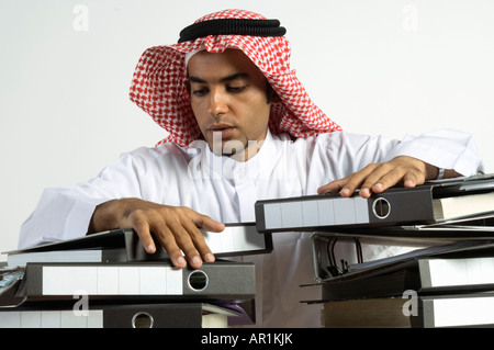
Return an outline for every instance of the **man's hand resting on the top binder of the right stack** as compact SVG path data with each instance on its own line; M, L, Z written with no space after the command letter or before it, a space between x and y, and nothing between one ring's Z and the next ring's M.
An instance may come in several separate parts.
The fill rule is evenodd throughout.
M400 156L388 162L371 163L360 171L332 181L317 190L318 194L327 191L351 196L360 189L360 196L367 199L371 193L381 193L386 189L402 183L405 188L414 188L426 180L436 179L438 168L419 159Z

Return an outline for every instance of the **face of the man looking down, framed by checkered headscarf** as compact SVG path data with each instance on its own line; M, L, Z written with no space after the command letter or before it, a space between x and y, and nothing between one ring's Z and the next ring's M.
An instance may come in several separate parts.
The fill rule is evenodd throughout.
M242 50L227 49L193 55L188 72L192 110L211 149L237 160L252 157L271 109L261 71Z

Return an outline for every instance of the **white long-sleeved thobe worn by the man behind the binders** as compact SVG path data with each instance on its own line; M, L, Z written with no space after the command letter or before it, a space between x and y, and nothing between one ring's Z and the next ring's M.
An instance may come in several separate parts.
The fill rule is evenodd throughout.
M108 200L139 197L189 206L223 223L255 221L255 202L316 194L317 188L371 162L401 155L472 176L482 167L472 137L437 131L403 140L345 132L292 140L268 133L259 153L240 162L215 156L204 142L190 148L162 144L123 154L88 182L46 189L21 228L19 247L83 236L96 205ZM318 306L300 303L321 297L313 283L310 235L273 234L273 251L245 257L256 262L257 319L262 327L317 327ZM385 247L371 247L367 257Z

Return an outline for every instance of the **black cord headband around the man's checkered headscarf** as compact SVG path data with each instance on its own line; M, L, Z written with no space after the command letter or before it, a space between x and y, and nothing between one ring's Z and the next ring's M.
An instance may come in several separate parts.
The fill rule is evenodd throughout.
M283 36L287 30L278 20L220 19L198 22L180 32L178 43L207 35Z

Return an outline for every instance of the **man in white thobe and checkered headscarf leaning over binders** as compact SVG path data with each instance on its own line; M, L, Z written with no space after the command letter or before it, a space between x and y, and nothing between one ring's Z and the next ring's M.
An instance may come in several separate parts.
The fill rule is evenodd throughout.
M480 169L470 135L460 132L403 142L341 132L310 100L289 58L278 21L239 10L209 14L178 44L147 49L131 99L168 138L124 154L86 183L47 189L20 246L132 227L148 252L154 233L178 268L199 268L214 261L199 227L252 222L257 200L357 189L367 197ZM317 311L300 304L312 293L299 287L312 278L307 235L273 240L272 253L246 258L258 271L259 325L317 326Z

